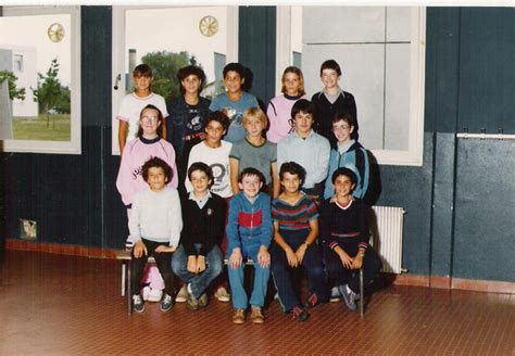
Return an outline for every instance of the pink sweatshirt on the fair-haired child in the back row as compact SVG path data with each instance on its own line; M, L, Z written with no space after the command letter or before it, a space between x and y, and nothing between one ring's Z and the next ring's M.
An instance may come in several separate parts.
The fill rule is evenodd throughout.
M279 140L288 135L291 129L289 119L291 118L291 107L299 99L307 99L307 96L302 97L288 97L285 94L278 94L271 100L268 109L266 110L266 116L271 122L266 138L268 141L277 143Z

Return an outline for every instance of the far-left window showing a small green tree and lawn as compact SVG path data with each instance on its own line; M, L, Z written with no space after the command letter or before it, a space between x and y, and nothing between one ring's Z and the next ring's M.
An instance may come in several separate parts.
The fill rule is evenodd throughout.
M0 150L79 154L79 7L2 10Z

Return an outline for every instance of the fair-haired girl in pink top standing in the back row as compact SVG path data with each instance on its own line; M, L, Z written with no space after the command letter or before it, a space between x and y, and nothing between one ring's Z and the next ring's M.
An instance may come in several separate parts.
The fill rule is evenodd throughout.
M301 69L294 66L287 67L280 80L282 93L271 100L266 111L271 122L266 138L274 143L291 132L291 107L296 101L301 98L307 99Z

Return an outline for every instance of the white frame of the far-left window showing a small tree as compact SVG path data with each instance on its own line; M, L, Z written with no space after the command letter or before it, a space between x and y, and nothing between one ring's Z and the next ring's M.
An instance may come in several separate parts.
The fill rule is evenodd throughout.
M43 140L1 140L0 152L26 152L26 153L54 153L54 154L81 154L80 141L80 7L3 7L2 16L30 16L30 15L56 15L66 14L71 16L71 61L72 79L71 89L71 115L70 115L70 141L43 141Z

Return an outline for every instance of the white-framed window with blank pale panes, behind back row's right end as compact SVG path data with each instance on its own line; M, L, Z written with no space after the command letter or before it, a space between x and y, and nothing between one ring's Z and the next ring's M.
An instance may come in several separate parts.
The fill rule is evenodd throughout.
M277 78L301 63L306 92L322 90L321 64L336 60L357 106L360 141L380 164L422 165L425 9L279 7ZM285 35L286 34L286 35Z

